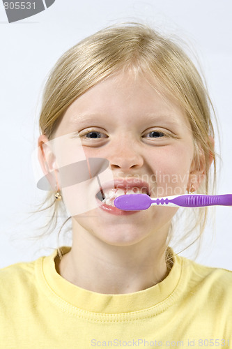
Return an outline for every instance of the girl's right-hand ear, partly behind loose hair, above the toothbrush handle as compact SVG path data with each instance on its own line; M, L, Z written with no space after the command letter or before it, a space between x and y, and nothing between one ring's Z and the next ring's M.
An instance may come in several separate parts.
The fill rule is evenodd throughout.
M215 148L215 140L212 138L212 136L209 135L210 143L212 149ZM203 150L201 147L199 147L199 158L196 159L196 156L194 160L192 161L191 169L190 169L190 176L189 181L187 184L187 191L196 191L203 180L206 178L206 158ZM214 156L212 155L212 152L209 151L208 153L208 165L212 164Z

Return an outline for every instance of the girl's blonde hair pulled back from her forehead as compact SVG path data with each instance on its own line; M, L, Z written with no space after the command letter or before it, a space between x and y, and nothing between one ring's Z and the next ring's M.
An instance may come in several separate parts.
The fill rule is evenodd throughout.
M63 54L45 84L40 133L52 139L72 102L107 76L121 70L130 70L135 75L142 71L156 77L165 91L183 107L192 127L196 161L200 165L201 153L206 162L206 179L199 191L208 194L209 154L212 154L214 165L212 186L215 186L216 178L215 151L209 138L215 136L210 116L211 111L215 112L208 91L182 48L144 24L116 24L85 38ZM49 193L45 202L50 200L49 207L53 209L51 222L56 222L57 203L51 201L53 195ZM208 209L194 212L194 226L190 231L199 228L198 239L206 226Z

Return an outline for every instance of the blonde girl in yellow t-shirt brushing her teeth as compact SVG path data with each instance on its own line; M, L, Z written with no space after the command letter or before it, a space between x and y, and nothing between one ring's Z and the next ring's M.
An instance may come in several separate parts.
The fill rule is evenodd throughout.
M210 98L183 50L141 24L82 40L49 75L40 131L72 246L1 270L2 348L229 348L231 272L173 252L178 208L114 206L127 193L208 193ZM205 223L199 209L201 232Z

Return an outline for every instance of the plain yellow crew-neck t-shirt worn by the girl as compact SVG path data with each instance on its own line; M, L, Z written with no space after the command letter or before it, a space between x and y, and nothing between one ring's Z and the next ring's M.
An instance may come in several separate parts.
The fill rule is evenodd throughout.
M0 270L0 348L232 348L232 272L173 255L157 285L104 295L63 279L56 255Z

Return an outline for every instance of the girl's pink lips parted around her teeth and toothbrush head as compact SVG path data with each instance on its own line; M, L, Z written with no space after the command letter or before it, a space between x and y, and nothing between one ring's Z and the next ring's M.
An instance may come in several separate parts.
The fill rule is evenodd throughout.
M109 183L105 183L101 186L100 191L105 191L106 189L124 189L124 190L130 190L132 188L146 188L148 195L150 193L150 187L149 184L145 181L140 181L139 179L114 179L114 186L112 186L112 181ZM97 192L98 193L98 192ZM96 193L96 195L97 195ZM102 201L100 201L96 196L95 199L98 202L98 205L102 211L105 211L109 214L114 214L116 216L129 216L131 214L136 214L137 212L141 211L123 211L122 209L118 209L117 207L102 204Z

